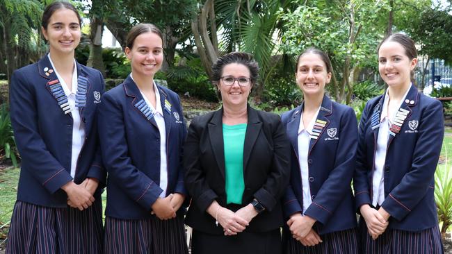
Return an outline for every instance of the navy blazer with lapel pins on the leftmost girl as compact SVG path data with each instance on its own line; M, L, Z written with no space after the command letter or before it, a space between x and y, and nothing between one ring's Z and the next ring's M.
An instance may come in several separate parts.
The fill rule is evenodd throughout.
M77 74L87 79L86 106L80 109L85 142L77 161L74 183L88 177L105 183L97 134L96 112L104 92L104 78L96 69L76 63ZM35 205L67 207L67 195L60 189L72 180L72 113L65 115L51 93L58 78L49 58L14 71L10 87L11 122L22 167L17 199ZM98 189L95 198L100 198Z

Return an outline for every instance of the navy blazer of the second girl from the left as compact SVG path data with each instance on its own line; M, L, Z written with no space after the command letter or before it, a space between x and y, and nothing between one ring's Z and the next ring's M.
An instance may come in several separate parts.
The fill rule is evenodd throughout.
M179 96L157 85L166 127L168 189L186 194L182 167L186 136ZM160 133L154 118L139 110L140 90L128 76L124 83L102 96L99 107L99 136L106 170L106 215L119 219L147 219L159 198ZM170 109L165 107L170 104ZM168 106L167 106L168 107Z

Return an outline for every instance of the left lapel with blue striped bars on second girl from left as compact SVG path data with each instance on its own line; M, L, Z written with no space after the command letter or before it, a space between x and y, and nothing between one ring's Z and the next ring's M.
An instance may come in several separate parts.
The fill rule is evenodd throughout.
M131 76L127 76L127 78L124 81L124 89L126 92L126 95L129 97L132 97L131 104L140 112L147 121L152 124L155 128L159 128L157 126L157 123L154 119L155 112L152 112L151 108L147 105L145 99L143 99L143 96L140 93L140 90L138 89L138 86L136 86L136 83L131 78Z

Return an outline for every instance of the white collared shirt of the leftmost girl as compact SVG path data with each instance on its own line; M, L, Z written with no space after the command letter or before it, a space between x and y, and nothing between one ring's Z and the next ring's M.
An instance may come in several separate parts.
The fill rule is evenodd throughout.
M67 87L67 84L65 80L58 74L58 71L56 70L54 66L54 62L51 61L50 53L47 55L49 58L51 67L54 69L56 77L58 78L58 81L60 81L61 87L63 87L63 91L65 92L67 96L67 102L70 105L70 108L72 108L72 119L74 120L74 123L72 125L72 154L71 154L71 176L72 178L75 177L75 171L77 167L77 160L79 159L79 154L81 151L81 148L83 146L83 143L85 142L85 128L83 121L81 121L80 117L80 111L79 108L76 108L75 106L75 94L77 93L77 65L74 59L74 71L72 72L72 89L69 90L69 87Z

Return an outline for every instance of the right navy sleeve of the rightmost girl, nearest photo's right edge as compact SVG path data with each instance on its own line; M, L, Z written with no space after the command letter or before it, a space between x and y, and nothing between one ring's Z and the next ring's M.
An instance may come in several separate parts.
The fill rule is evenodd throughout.
M444 137L442 114L442 104L437 100L423 110L419 119L419 136L414 148L411 170L382 203L382 208L398 221L421 201L435 177Z

